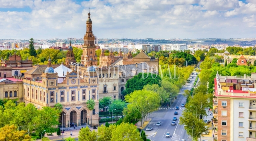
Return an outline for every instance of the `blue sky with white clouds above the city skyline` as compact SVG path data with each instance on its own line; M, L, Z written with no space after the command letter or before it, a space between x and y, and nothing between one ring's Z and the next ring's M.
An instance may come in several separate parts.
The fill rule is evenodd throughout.
M254 38L256 0L0 0L0 39Z

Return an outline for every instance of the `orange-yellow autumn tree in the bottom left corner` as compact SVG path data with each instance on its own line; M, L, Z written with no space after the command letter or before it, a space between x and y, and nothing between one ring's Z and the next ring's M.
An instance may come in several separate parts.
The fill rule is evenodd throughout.
M5 125L0 128L0 141L30 141L31 136L25 135L26 131L17 130L14 125Z

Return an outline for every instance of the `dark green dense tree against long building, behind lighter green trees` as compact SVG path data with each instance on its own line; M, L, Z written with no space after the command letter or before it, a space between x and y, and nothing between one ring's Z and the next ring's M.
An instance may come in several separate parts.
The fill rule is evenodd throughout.
M161 78L159 77L159 75L152 74L152 76L151 73L139 73L138 75L135 75L132 79L129 79L125 85L127 94L130 94L135 90L142 90L145 85L157 84L160 87Z

